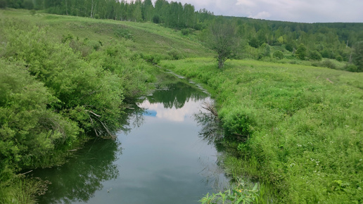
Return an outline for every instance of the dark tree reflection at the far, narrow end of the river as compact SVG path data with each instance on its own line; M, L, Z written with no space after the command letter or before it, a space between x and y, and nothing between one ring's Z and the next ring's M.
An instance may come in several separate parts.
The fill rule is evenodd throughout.
M203 91L191 87L189 84L177 82L167 84L166 87L156 89L153 96L148 96L151 103L163 103L165 108L182 108L190 99L198 101L206 97Z

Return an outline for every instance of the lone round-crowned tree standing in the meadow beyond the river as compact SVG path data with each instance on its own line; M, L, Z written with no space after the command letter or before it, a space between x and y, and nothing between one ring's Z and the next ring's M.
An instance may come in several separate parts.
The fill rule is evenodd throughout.
M222 69L224 62L234 56L237 47L236 25L219 18L210 25L210 49L217 51L218 68Z

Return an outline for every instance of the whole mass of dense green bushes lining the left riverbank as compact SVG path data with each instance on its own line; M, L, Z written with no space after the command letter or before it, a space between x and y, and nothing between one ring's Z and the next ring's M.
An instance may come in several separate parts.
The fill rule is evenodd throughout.
M148 90L150 65L122 41L55 39L12 19L0 27L0 203L30 203L39 186L19 173L64 162L84 139L113 137L127 101Z

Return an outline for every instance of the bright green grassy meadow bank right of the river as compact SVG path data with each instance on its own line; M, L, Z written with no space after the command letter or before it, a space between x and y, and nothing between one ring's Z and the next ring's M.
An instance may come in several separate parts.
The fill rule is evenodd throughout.
M305 65L212 58L162 61L217 99L224 165L277 190L283 203L363 200L363 75Z

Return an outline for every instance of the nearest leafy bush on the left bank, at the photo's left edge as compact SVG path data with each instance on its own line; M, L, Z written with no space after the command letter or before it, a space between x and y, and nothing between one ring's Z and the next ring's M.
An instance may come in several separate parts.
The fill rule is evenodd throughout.
M21 65L0 62L0 174L4 174L34 167L57 148L71 144L79 129L75 122L47 109L57 100L44 84Z

